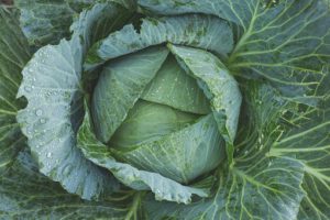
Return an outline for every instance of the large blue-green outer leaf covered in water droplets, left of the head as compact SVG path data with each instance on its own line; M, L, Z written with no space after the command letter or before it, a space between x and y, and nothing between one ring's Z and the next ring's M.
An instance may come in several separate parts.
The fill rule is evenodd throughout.
M107 197L118 188L108 172L85 158L76 147L76 131L84 118L80 85L84 52L94 37L105 34L102 29L96 29L98 22L122 12L113 8L106 14L111 7L112 3L100 3L84 11L73 25L70 41L63 40L59 45L37 51L22 73L19 90L19 97L26 97L29 103L19 112L18 121L41 173L85 199ZM113 26L125 20L116 20Z

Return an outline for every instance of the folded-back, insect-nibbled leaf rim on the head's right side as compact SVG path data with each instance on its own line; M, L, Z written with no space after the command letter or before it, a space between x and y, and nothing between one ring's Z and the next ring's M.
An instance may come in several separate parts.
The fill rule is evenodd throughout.
M242 102L241 91L235 79L218 57L209 52L170 44L168 47L176 55L183 68L197 79L210 100L219 132L228 143L227 153L231 163Z

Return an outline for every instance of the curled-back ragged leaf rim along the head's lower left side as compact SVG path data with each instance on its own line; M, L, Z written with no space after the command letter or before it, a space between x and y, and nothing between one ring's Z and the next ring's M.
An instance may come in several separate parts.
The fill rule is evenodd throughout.
M193 195L207 196L202 189L183 186L157 173L140 170L129 164L117 162L109 147L95 136L88 111L78 132L78 146L87 158L112 172L121 183L135 190L152 190L157 200L188 204Z

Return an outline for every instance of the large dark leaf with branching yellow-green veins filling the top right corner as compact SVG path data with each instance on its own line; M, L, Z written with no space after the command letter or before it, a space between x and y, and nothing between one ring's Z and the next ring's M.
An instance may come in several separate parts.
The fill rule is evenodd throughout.
M229 58L235 75L268 80L282 95L309 106L330 63L330 13L322 0L285 0L267 7L264 0L139 0L155 14L206 13L234 22L243 33ZM217 46L215 47L217 48ZM212 50L215 50L212 48Z

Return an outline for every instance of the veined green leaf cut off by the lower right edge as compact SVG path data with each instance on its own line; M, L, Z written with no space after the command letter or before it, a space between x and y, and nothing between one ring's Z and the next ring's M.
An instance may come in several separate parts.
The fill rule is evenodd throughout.
M298 219L326 220L330 217L330 111L310 109L310 112L299 127L274 143L270 155L290 156L304 164L302 188L307 195ZM289 121L297 123L297 120L299 118L294 117Z

